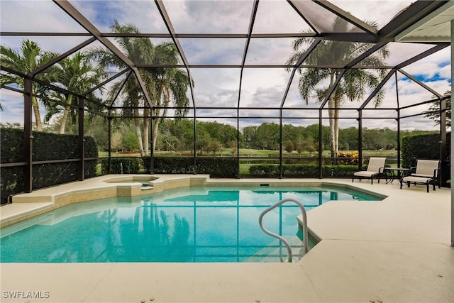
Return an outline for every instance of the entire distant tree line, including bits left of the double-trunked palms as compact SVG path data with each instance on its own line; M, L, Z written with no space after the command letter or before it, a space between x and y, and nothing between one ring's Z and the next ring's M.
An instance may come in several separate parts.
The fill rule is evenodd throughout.
M88 118L87 118L88 120ZM111 134L111 150L123 152L138 152L138 138L135 133L135 123L131 119L114 119ZM4 125L3 127L18 127L20 124ZM143 126L141 126L143 127ZM46 128L47 131L58 133L60 125ZM321 128L321 143L323 150L329 149L329 126ZM87 131L87 136L95 138L99 149L107 151L109 137L106 136L106 119L97 117ZM162 119L159 126L160 136L155 141L155 149L168 153L184 154L194 150L194 120L193 119ZM423 133L438 133L437 131L401 131L402 138ZM239 148L253 150L279 150L279 124L262 123L257 126L246 126L237 132L236 127L217 121L196 121L195 148L201 155L216 155L222 150L230 150L235 154L237 142ZM287 153L303 152L309 154L319 149L319 124L309 126L282 125L282 150ZM397 149L397 131L390 128L362 128L363 150L392 150ZM358 150L358 128L339 129L339 150Z

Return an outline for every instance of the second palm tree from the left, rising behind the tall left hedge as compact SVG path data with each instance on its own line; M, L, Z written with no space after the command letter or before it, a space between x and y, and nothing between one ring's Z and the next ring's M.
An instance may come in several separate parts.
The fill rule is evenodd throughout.
M48 77L51 82L64 87L70 92L84 94L104 77L104 69L94 67L92 62L90 62L90 58L84 53L75 53L72 57L66 57L58 62ZM65 133L68 116L72 116L73 120L75 119L77 110L74 111L72 104L76 102L74 102L72 94L67 95L55 92L52 97L66 105L60 107L50 101L45 121L48 121L55 114L62 113L60 133Z

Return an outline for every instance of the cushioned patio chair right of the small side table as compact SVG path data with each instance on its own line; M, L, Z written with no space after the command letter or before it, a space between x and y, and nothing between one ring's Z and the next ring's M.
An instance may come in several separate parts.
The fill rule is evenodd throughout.
M400 180L400 188L406 183L407 187L410 187L410 184L425 184L427 187L429 184L433 184L433 190L435 190L435 183L438 182L438 188L440 188L440 182L438 180L438 175L440 172L440 160L416 160L416 167L411 167L416 169L415 172L411 175L403 177Z

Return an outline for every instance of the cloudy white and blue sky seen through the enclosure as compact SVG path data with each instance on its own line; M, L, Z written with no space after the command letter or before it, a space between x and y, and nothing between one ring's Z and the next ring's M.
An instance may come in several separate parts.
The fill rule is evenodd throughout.
M177 33L247 33L250 22L250 13L253 1L177 1L164 0L168 15ZM411 4L406 0L389 1L331 1L344 11L348 11L362 21L375 21L378 28L387 24L400 10ZM162 22L156 5L151 0L142 1L70 1L77 10L103 33L110 32L110 26L116 19L118 23L133 23L141 33L168 33L165 23ZM66 15L51 0L13 1L0 0L0 28L1 31L16 32L61 32L84 33L85 30L77 22ZM325 17L328 20L329 16ZM327 22L328 23L328 22ZM322 26L326 26L323 24ZM284 0L261 0L255 18L253 33L299 33L308 30L304 20ZM1 45L18 50L23 37L1 36ZM37 37L28 36L37 41L43 50L52 50L63 53L75 45L87 40L88 37ZM166 39L153 38L155 44ZM168 40L168 39L167 39ZM255 38L250 41L246 64L284 64L293 53L293 38ZM114 42L114 39L111 39ZM245 39L221 38L180 38L184 55L192 65L239 65L245 49ZM115 42L114 42L115 43ZM99 46L95 42L89 45L92 48ZM410 43L389 43L388 65L396 65L402 60L409 59L431 45L415 45ZM445 48L425 59L409 65L404 71L426 83L439 94L450 89L450 48ZM240 69L226 68L192 68L194 79L194 102L197 107L216 106L226 108L238 104L240 97L241 107L273 107L279 109L284 91L290 79L289 72L284 69L253 69L243 72L240 83ZM433 94L411 81L405 75L398 73L397 83L394 77L384 86L384 101L381 108L394 108L397 104L396 85L399 88L399 104L401 106L414 104L416 101L431 99ZM314 124L318 123L318 111L309 108L318 108L315 100L306 104L301 100L295 77L289 94L284 103L284 123ZM239 87L241 86L241 91ZM364 99L367 98L365 95ZM190 97L190 95L189 95ZM4 111L0 112L1 123L22 121L23 97L7 89L0 90L0 101ZM360 101L362 103L362 101ZM358 101L346 101L345 110L341 111L341 128L358 126L357 111L351 110L358 106ZM306 108L295 111L292 108ZM373 109L373 105L367 106ZM350 110L349 110L350 109ZM401 115L412 115L425 111L427 106L402 111ZM189 113L192 115L192 111ZM206 116L204 121L214 120L220 123L236 125L236 110L228 109L198 109L198 116ZM396 128L396 111L365 111L363 127L367 128ZM257 125L262 122L279 123L279 119L259 119L260 116L279 116L279 110L240 110L240 127ZM382 116L384 119L372 120L367 117ZM294 119L304 117L305 119ZM326 120L326 125L328 121ZM432 121L423 116L402 120L403 129L436 129Z

